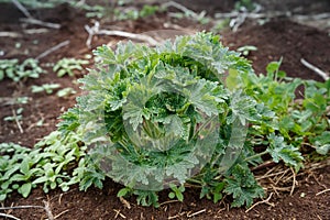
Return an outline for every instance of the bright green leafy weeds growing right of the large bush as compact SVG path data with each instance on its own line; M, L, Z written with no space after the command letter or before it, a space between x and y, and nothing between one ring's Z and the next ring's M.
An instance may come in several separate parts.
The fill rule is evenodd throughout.
M317 82L286 77L286 74L279 70L280 63L282 59L270 63L265 76L239 76L242 80L240 80L241 84L238 82L235 86L244 87L248 95L252 96L257 102L265 105L276 117L276 123L272 127L261 123L252 127L251 133L264 136L268 135L266 134L267 131L277 130L282 138L272 134L265 143L271 146L274 144L278 146L277 153L280 153L280 151L290 152L290 158L298 158L297 156L300 154L298 150L301 147L311 146L311 150L316 151L328 148L327 146L330 143L328 136L330 80ZM301 94L302 99L296 99L299 86L302 86L305 90ZM272 147L267 151L271 153ZM328 151L323 153L327 154ZM274 157L274 154L272 155ZM294 165L289 161L285 162Z

